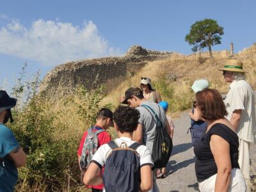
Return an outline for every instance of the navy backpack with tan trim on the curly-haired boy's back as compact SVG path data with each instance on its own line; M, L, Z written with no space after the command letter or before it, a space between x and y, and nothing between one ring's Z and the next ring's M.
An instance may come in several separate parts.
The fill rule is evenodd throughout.
M140 144L133 143L130 147L120 148L115 141L110 141L108 145L112 152L106 159L102 177L106 192L139 191L140 156L136 152L136 148Z

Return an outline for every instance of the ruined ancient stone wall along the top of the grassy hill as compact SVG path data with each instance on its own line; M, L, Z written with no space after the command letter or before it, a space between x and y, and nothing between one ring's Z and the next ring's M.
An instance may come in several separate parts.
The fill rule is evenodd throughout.
M122 57L72 61L58 65L48 72L42 81L39 92L43 97L52 98L72 93L77 84L91 89L109 81L118 83L124 77L132 76L140 70L147 61L163 60L177 55L180 54L149 51L135 45L130 47Z

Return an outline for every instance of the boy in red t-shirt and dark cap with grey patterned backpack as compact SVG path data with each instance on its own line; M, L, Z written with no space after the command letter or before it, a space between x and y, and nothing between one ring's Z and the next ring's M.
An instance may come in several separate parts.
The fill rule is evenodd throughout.
M83 181L84 173L86 172L90 161L97 149L111 141L111 136L106 131L109 127L113 127L113 112L109 109L102 108L97 114L97 122L92 127L84 132L83 138L77 150L79 166L81 169L81 180ZM102 169L99 173L101 174ZM92 188L92 192L102 191L103 185L86 186Z

